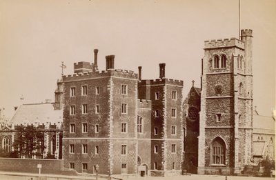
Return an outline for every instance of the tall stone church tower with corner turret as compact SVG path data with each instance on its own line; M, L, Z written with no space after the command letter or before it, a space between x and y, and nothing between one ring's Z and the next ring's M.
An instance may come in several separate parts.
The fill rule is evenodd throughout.
M241 39L205 41L198 173L239 173L253 144L252 30ZM224 172L223 172L224 173ZM229 173L229 172L228 172Z

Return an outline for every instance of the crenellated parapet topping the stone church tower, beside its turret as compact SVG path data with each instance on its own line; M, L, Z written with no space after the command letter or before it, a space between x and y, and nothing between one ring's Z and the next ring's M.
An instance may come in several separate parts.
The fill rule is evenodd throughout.
M213 39L210 41L204 41L204 50L215 48L241 48L244 49L244 42L237 38L226 39Z

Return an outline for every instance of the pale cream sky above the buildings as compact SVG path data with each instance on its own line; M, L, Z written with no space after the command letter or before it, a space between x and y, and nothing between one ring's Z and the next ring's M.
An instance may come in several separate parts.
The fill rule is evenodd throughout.
M61 61L93 61L108 54L115 68L143 66L143 79L184 81L184 97L200 88L204 41L238 37L238 0L104 1L0 0L0 108L54 101ZM241 0L241 28L253 30L253 98L259 114L275 110L276 1Z

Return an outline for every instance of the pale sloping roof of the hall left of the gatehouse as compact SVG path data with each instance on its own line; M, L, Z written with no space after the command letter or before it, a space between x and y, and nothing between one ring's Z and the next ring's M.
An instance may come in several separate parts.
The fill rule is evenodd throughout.
M62 110L54 110L52 103L23 104L17 108L9 123L57 123L62 122Z

